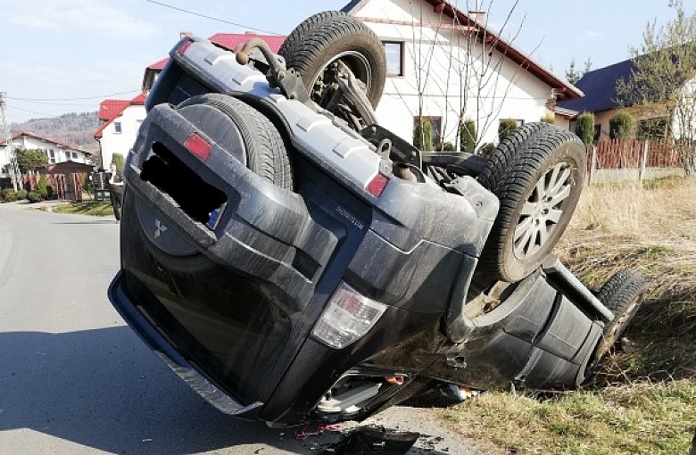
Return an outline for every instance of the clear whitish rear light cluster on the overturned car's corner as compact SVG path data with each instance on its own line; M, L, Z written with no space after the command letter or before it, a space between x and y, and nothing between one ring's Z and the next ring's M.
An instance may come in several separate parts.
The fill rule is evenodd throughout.
M327 346L343 349L367 334L385 310L384 303L358 294L351 286L341 282L311 334Z

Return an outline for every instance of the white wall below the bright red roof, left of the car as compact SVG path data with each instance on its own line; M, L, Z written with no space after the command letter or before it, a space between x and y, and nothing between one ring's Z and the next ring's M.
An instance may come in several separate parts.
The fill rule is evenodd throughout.
M130 105L104 128L103 136L99 139L102 152L100 167L109 170L113 153L121 153L124 158L126 157L133 148L133 143L136 142L137 130L143 120L145 120L145 106ZM120 125L120 133L117 132L117 124Z

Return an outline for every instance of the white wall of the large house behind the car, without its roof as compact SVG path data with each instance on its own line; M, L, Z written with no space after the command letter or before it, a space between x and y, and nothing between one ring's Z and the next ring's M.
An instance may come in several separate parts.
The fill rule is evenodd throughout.
M543 118L551 87L431 5L372 0L353 13L383 41L404 43L404 74L387 77L377 107L380 124L403 139L412 141L418 115L441 117L443 141L455 146L461 112L476 121L479 145L497 142L500 119Z

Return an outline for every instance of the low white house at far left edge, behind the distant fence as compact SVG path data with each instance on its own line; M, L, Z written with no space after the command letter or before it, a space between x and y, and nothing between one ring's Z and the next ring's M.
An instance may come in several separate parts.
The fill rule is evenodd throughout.
M46 153L48 164L73 161L83 164L92 163L92 153L81 150L72 145L62 144L47 137L38 136L30 132L21 132L12 136L12 148L18 149L38 149ZM10 157L7 153L5 141L0 143L0 177L8 177L7 164Z

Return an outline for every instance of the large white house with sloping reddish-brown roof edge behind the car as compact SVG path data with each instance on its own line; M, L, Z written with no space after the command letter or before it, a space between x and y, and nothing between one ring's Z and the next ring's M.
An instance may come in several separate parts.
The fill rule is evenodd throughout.
M385 128L411 141L414 118L433 142L457 145L460 121L478 144L497 142L501 119L553 116L555 101L583 95L487 28L485 14L442 0L353 0L344 7L385 44L387 80L377 106Z

